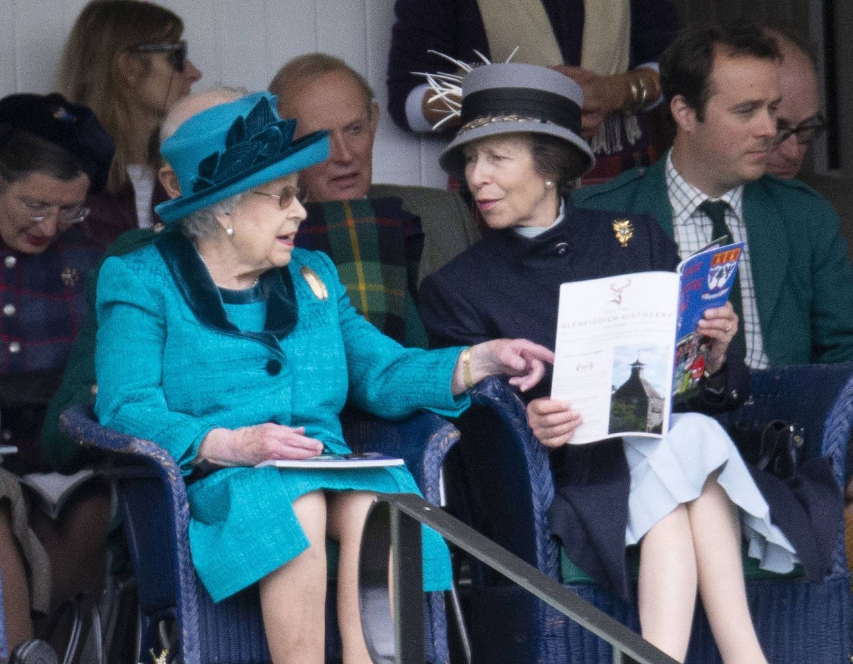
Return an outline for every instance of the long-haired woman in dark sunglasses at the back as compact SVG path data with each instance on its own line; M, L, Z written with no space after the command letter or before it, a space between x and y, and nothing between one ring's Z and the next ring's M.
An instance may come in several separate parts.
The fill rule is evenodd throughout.
M93 196L84 230L106 246L158 220L157 131L165 113L201 72L187 58L183 21L144 0L93 0L78 15L62 51L56 89L85 104L115 141L104 192Z

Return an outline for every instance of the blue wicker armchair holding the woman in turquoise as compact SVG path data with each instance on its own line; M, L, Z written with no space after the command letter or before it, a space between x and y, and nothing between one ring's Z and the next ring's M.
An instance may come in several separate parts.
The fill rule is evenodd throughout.
M177 625L177 657L182 664L269 664L258 588L213 603L195 573L189 553L189 504L180 470L171 455L153 442L125 436L96 423L91 407L69 408L61 428L84 445L105 453L104 473L118 488L125 535L139 594L139 653L160 649L163 624ZM458 431L432 413L403 422L353 417L346 427L353 447L406 459L427 499L438 500L438 463L458 439ZM334 613L334 584L327 601L327 661L340 660ZM444 597L427 599L427 650L434 664L449 662ZM174 655L175 653L171 653Z

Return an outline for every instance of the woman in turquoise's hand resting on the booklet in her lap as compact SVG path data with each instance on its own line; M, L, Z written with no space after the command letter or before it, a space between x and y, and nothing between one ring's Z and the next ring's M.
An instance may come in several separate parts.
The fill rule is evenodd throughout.
M322 442L305 436L304 426L256 424L213 429L199 446L198 459L218 465L258 465L270 459L308 459L322 453Z

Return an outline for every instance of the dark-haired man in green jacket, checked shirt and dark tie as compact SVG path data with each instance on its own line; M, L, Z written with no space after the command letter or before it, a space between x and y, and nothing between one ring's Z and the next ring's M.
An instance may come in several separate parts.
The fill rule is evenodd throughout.
M838 215L804 183L765 175L779 57L755 26L683 34L660 61L676 123L670 153L574 196L581 207L653 214L682 257L721 228L744 241L739 314L751 368L853 360L853 267Z

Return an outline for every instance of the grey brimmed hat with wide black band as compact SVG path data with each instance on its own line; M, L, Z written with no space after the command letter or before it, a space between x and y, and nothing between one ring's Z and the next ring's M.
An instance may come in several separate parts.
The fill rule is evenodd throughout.
M563 139L586 156L589 172L595 157L578 136L582 107L580 85L554 69L519 62L474 67L462 78L461 127L438 161L450 175L463 176L466 143L522 132Z

